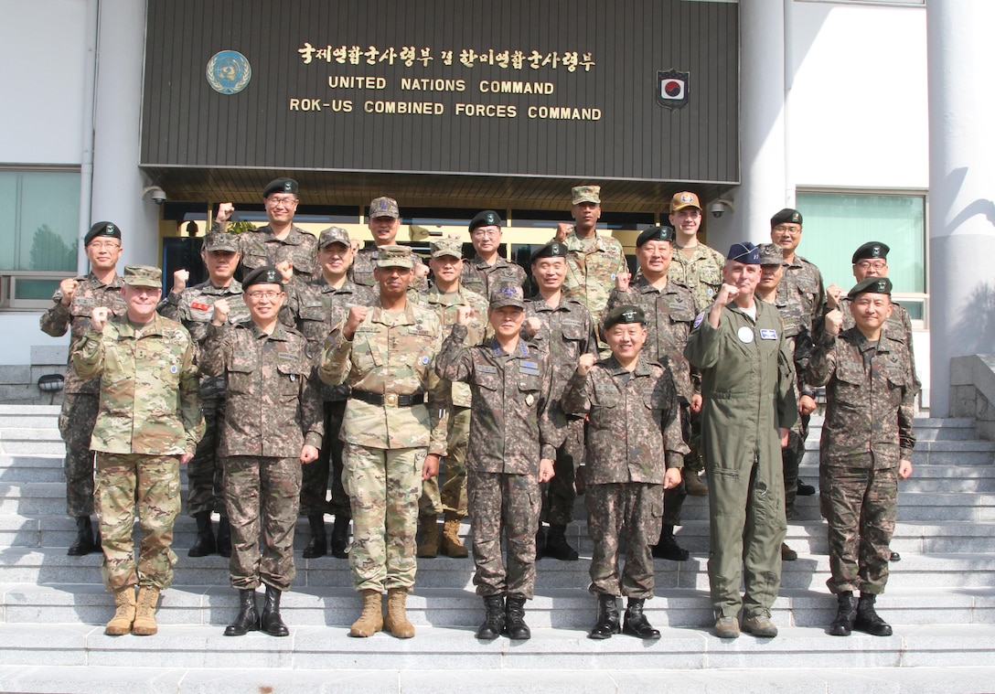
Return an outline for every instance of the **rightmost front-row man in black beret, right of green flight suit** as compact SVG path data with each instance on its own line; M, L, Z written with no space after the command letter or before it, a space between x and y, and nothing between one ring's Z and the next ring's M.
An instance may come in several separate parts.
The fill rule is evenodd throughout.
M858 283L848 294L855 326L841 332L843 315L830 311L809 361L809 380L826 386L819 491L829 523L826 585L838 601L835 636L892 634L875 602L888 583L898 480L912 472L915 383L907 347L883 330L891 294L887 277Z

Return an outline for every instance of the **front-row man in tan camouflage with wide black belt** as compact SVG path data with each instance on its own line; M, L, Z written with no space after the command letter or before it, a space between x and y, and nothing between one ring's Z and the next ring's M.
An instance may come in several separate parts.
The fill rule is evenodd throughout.
M373 270L378 302L349 309L321 353L321 380L352 388L341 434L352 508L349 568L363 598L352 636L383 628L398 638L415 635L405 605L418 568L418 499L446 454L449 384L433 370L442 323L408 300L413 267L410 249L381 247Z

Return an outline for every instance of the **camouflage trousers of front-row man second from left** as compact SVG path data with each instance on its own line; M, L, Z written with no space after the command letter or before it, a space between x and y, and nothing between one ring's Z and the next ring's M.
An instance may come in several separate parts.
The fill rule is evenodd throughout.
M224 462L225 505L232 527L228 568L232 588L255 590L264 583L291 590L296 576L294 526L300 502L300 460L231 455Z

